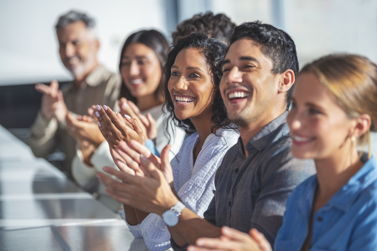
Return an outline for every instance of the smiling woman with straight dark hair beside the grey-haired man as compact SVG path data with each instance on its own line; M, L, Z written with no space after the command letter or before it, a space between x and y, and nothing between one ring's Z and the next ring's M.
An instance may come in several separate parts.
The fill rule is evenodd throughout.
M157 152L154 153L159 154L167 144L172 145L172 151L169 152L171 160L178 154L186 133L173 123L167 128L168 135L164 133L163 117L166 111L162 109L162 104L165 78L162 68L168 49L169 44L165 37L157 30L141 30L127 38L119 63L123 82L119 105L123 116L126 114L136 118L139 126L143 126L143 134L146 144L149 143L150 151L156 148ZM71 117L68 121L70 126L80 128L82 131L87 128L86 124L90 124L90 122L77 121ZM74 179L84 188L92 186L93 180L97 181L95 175L97 172L102 172L104 166L118 169L110 155L109 143L102 137L98 128L96 133L91 133L91 137L101 137L102 143L91 148L90 151L78 149L72 161ZM120 140L128 142L126 137ZM115 148L117 144L110 145ZM100 196L106 196L101 187L99 193Z

